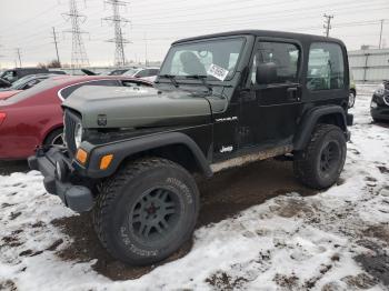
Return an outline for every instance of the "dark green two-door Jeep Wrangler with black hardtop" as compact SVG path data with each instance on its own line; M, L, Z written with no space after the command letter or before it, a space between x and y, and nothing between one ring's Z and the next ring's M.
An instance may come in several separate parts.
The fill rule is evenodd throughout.
M331 187L350 138L348 99L340 40L261 30L183 39L154 88L77 90L63 102L67 146L39 148L29 164L67 207L92 211L114 258L151 264L193 232L194 173L288 154L303 184Z

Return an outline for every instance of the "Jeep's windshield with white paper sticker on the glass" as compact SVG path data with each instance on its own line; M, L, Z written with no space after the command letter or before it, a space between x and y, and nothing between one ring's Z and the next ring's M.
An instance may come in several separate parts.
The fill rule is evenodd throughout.
M163 62L160 76L207 76L223 81L232 78L243 39L216 39L173 46Z

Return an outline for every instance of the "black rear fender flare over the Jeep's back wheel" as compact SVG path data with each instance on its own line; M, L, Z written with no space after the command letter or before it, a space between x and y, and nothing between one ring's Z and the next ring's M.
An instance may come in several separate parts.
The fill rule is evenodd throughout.
M302 150L309 142L311 133L318 123L319 119L325 116L337 116L341 120L341 129L347 136L347 119L345 109L340 106L326 106L313 108L309 110L306 116L302 118L302 121L298 128L298 132L293 138L293 149Z

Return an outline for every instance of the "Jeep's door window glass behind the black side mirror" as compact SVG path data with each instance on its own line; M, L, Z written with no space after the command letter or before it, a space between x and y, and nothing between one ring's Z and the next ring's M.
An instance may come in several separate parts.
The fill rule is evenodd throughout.
M260 42L251 66L251 83L257 82L257 68L259 64L273 63L276 66L276 80L273 83L297 82L300 50L293 43Z

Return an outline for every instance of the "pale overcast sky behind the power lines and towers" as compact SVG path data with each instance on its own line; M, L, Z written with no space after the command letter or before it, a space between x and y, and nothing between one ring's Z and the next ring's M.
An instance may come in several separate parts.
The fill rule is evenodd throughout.
M112 14L103 0L77 0L79 12L87 17L81 24L90 63L113 63L113 27L102 21ZM14 67L16 48L23 66L36 66L56 58L52 27L59 39L62 63L71 60L71 23L62 16L69 0L0 0L0 68ZM142 0L129 1L121 16L126 26L128 60L162 60L172 41L205 33L240 29L270 29L313 34L323 33L323 13L333 14L331 37L342 39L349 50L361 44L378 46L380 19L383 43L389 47L388 0ZM147 39L147 41L144 41Z

